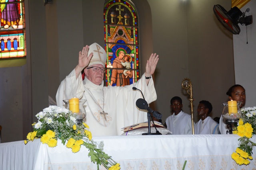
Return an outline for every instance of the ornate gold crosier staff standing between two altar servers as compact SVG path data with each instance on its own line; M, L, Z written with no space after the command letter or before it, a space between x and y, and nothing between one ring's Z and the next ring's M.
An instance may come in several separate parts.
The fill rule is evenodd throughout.
M182 83L181 83L181 86L183 89L187 90L188 94L190 95L190 106L191 106L191 123L192 123L192 134L194 135L195 132L194 132L194 116L193 116L193 93L192 93L192 84L191 84L191 81L189 78L184 78Z

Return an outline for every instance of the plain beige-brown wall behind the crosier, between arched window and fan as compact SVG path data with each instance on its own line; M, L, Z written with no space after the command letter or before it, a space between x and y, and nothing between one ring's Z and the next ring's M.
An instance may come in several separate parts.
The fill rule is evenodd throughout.
M217 22L215 4L230 8L221 0L148 0L152 10L154 51L160 53L156 76L157 109L163 120L170 115L170 99L180 96L183 110L191 112L184 78L192 81L194 119L198 121L200 100L213 105L212 117L222 113L226 91L234 84L232 34ZM222 25L221 25L222 26ZM161 60L162 59L162 60Z

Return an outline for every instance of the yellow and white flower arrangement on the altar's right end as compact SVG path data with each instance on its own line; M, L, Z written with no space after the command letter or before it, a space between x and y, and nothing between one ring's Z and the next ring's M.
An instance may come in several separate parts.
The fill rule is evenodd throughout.
M240 146L231 154L231 158L239 165L248 165L252 160L252 149L256 146L256 143L250 141L252 135L256 134L256 107L242 108L241 112L238 126L233 130L233 134L240 136Z

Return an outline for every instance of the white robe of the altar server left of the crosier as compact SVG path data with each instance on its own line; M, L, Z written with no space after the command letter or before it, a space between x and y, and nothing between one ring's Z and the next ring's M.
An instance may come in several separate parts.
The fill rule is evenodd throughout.
M167 129L172 135L189 135L192 134L191 115L180 111L178 115L174 113L166 119Z

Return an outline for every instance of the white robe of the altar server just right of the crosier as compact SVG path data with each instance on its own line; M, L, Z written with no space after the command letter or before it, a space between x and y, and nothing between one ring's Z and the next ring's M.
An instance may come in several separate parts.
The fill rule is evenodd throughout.
M214 121L210 116L206 117L204 121L200 119L194 127L195 135L212 134L216 125L217 122Z

